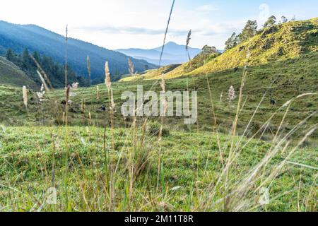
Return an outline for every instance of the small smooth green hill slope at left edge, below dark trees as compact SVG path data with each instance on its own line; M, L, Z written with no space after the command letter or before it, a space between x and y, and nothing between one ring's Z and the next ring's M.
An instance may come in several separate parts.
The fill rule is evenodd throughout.
M18 66L0 57L0 84L15 85L22 87L27 85L36 88L37 84L30 79Z

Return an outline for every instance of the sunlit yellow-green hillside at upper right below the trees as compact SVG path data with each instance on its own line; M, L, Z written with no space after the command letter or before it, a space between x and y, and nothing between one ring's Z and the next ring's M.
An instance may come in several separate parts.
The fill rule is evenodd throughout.
M247 42L228 49L218 57L211 54L211 57L201 60L194 58L167 72L165 78L232 71L245 66L247 52L249 66L266 65L274 61L290 62L289 60L300 57L313 56L312 54L318 52L318 18L290 21L266 28ZM160 76L151 76L151 79L157 78Z

